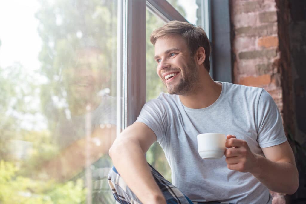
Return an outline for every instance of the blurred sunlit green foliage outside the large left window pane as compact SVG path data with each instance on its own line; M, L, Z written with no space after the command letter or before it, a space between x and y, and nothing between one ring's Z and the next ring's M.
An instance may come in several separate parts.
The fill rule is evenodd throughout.
M93 92L109 87L115 94L116 2L40 1L40 69L27 72L18 63L0 69L0 203L84 202L81 179L58 183L38 170L59 154L61 141L54 136L67 120L65 110L85 107L86 92L72 87L80 70L86 67L95 76ZM36 114L44 115L47 129L32 130ZM29 147L23 150L19 143Z

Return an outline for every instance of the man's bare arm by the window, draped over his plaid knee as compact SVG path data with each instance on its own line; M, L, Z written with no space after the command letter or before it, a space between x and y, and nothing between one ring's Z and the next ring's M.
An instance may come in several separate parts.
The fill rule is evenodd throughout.
M155 133L144 123L136 122L120 134L109 154L117 171L141 202L166 204L145 158L155 141Z

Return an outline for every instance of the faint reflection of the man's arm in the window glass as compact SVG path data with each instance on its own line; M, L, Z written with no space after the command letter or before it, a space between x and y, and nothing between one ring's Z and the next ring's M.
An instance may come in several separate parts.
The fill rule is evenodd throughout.
M86 167L88 163L86 160L93 163L106 154L115 138L115 125L109 125L106 128L98 127L92 132L89 139L84 136L74 141L54 158L44 162L39 172L59 181L71 179ZM89 155L86 155L86 146L90 147Z

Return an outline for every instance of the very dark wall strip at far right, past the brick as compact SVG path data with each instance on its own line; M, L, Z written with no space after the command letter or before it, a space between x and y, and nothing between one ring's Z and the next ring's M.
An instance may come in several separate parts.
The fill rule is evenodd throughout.
M294 138L300 186L292 203L306 202L306 1L289 1L290 61L293 83ZM284 96L285 97L285 96Z

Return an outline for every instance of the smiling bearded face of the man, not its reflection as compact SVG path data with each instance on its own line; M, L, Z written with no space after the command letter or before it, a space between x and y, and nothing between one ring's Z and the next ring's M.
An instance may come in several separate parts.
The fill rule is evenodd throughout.
M186 95L195 90L199 70L185 39L178 35L160 37L155 43L156 72L169 94Z

